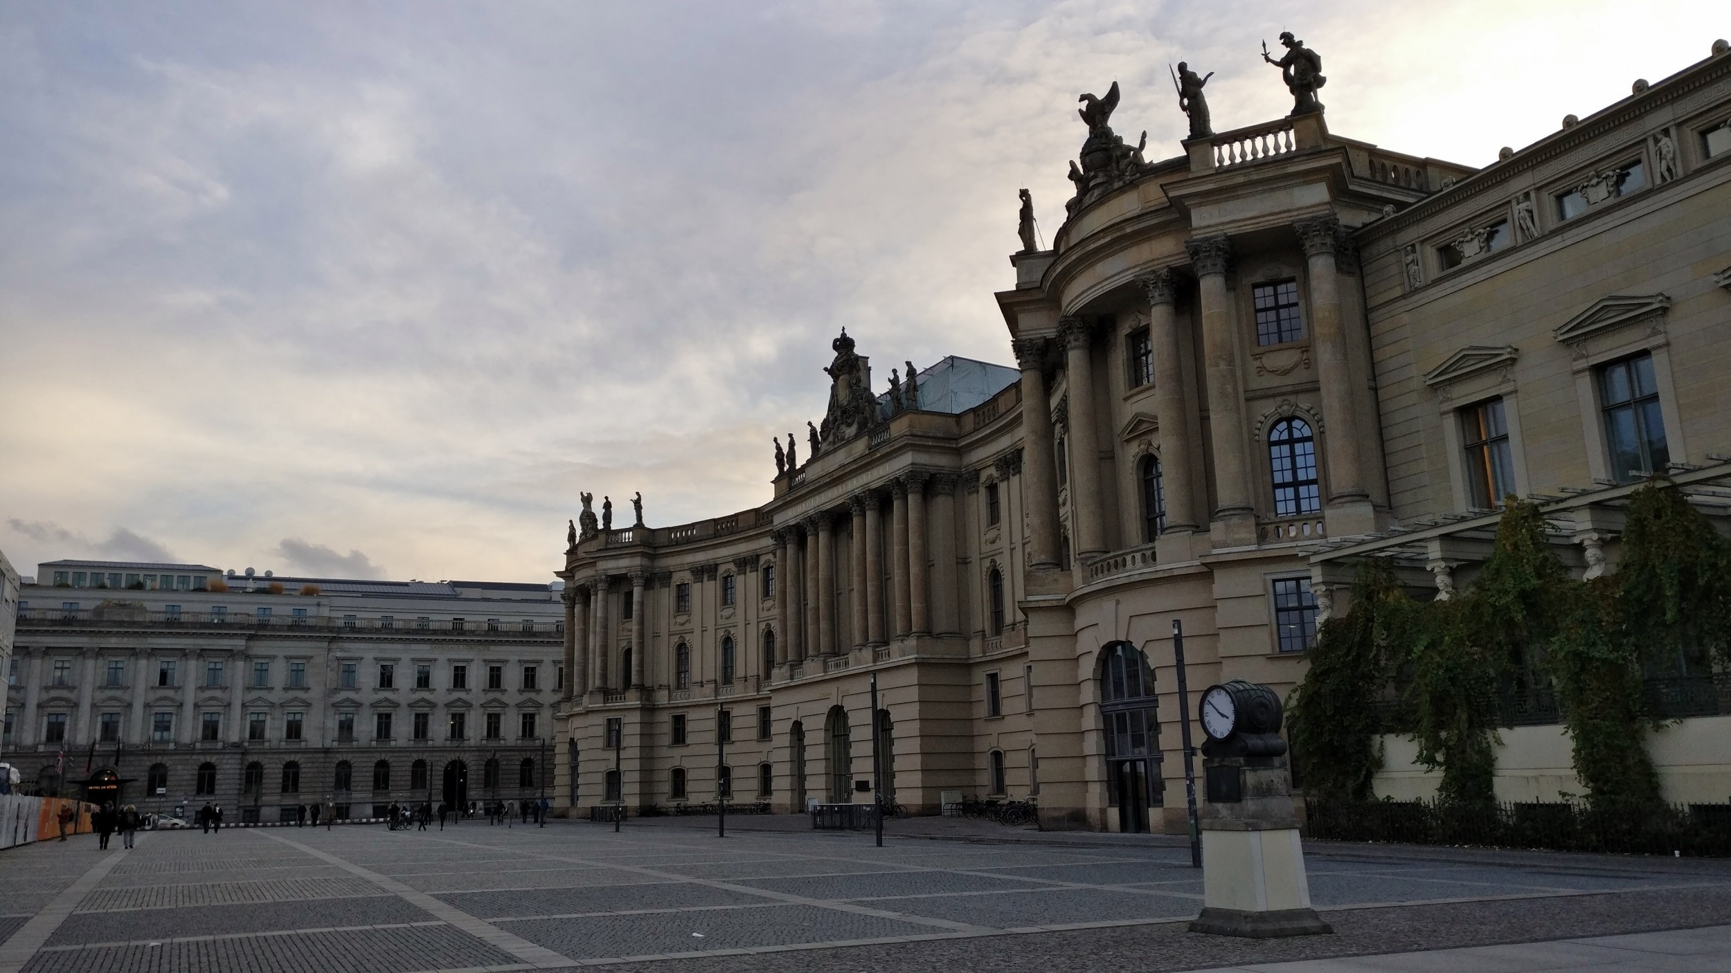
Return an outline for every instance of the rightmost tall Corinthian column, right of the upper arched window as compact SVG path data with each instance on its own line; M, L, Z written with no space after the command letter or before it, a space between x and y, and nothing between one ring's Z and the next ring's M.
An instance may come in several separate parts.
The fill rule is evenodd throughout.
M1335 267L1335 241L1340 220L1321 216L1295 223L1310 270L1310 353L1322 390L1322 421L1328 441L1328 499L1335 502L1367 500L1364 471L1359 467L1359 414L1352 407L1352 369L1347 367L1347 336L1340 319L1340 270ZM1329 532L1333 533L1333 532Z

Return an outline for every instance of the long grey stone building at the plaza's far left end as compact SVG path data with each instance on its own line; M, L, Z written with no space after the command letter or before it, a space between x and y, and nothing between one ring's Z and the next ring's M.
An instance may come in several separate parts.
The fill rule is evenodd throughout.
M140 810L279 821L550 784L564 622L549 585L106 561L36 580L0 741L26 786L71 788L88 764Z

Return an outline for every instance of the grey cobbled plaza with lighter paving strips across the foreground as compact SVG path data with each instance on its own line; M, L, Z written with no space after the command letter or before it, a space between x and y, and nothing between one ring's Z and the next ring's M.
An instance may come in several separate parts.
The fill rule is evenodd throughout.
M0 852L0 973L602 963L1051 973L1345 956L1361 959L1291 970L1428 970L1463 966L1380 966L1376 954L1655 930L1695 931L1643 940L1665 945L1651 956L1670 966L1643 964L1632 947L1523 949L1634 963L1608 970L1731 968L1731 935L1705 928L1731 925L1728 862L1319 845L1310 890L1336 935L1250 942L1186 931L1201 876L1172 840L985 824L891 834L876 848L869 833L798 826L741 819L727 838L685 819L634 821L618 834L564 821L170 831L142 833L130 852L118 836L107 852L93 836L43 841ZM1466 966L1589 966L1520 963Z

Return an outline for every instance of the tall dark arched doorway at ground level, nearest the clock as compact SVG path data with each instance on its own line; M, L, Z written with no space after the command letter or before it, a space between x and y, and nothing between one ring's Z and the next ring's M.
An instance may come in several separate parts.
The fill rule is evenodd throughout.
M1106 798L1118 809L1118 831L1148 831L1148 809L1160 807L1160 720L1155 672L1130 642L1106 642L1099 658L1099 717L1106 734Z

